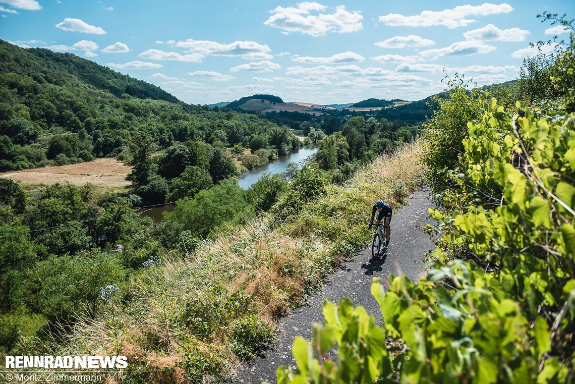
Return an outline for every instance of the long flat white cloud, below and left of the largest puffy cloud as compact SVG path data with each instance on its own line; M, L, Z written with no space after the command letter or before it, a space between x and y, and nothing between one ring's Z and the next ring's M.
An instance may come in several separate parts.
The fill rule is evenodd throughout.
M233 43L223 44L209 40L187 39L184 41L168 41L174 47L185 48L189 53L208 56L240 56L242 59L258 60L271 59L270 47L267 44L259 44L255 41L234 41Z

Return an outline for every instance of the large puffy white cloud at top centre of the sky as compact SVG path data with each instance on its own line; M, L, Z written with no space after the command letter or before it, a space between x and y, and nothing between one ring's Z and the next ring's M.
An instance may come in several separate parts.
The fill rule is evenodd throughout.
M281 29L282 33L298 32L310 36L323 36L328 32L357 32L363 28L363 16L359 11L346 11L343 5L336 6L335 13L310 14L310 11L325 11L327 7L316 2L302 2L296 7L277 7L263 24Z

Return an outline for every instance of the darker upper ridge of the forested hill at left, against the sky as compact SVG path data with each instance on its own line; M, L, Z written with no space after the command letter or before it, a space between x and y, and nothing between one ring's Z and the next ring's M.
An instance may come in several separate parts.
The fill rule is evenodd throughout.
M29 76L37 83L82 85L116 97L128 94L140 99L179 102L155 85L122 75L72 53L57 53L43 48L22 49L3 40L0 40L0 71L2 74Z

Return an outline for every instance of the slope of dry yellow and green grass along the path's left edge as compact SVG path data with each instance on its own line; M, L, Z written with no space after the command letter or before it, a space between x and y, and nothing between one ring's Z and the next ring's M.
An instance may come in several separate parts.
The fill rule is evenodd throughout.
M173 252L162 266L122 287L129 304L111 302L109 312L95 321L79 322L67 350L127 355L132 369L144 367L145 378L139 378L148 382L185 382L194 367L233 371L237 324L245 324L246 314L273 324L312 294L342 259L365 246L371 204L384 198L397 207L419 186L420 152L415 143L375 159L343 186L329 186L288 222L263 215L198 252L183 257ZM192 307L208 309L204 320L215 322L209 337L182 327ZM210 320L210 313L220 319ZM210 381L209 375L204 379Z

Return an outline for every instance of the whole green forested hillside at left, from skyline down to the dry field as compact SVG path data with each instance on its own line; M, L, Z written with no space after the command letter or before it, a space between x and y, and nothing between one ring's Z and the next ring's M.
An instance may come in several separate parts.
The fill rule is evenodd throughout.
M189 140L209 144L209 153L254 140L280 154L299 145L275 122L188 105L81 57L0 41L0 172L125 160L136 133L150 136L154 150Z

